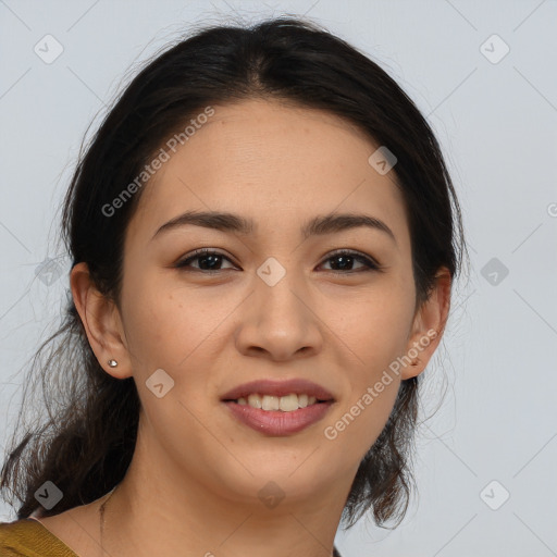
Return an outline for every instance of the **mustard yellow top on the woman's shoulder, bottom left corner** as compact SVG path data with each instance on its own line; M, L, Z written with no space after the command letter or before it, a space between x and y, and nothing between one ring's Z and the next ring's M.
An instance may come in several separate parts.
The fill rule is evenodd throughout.
M38 520L0 522L1 557L78 557Z

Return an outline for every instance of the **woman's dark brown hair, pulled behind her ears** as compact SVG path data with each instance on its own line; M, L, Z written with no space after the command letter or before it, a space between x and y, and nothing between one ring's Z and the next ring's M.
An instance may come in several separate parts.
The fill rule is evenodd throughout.
M460 209L425 119L367 55L314 24L278 17L205 28L168 47L133 78L81 152L64 200L62 238L73 265L86 262L102 294L119 304L124 234L143 189L112 216L102 207L206 107L250 98L329 111L396 154L392 172L409 222L417 307L441 267L458 274L466 252ZM133 377L115 380L103 371L71 299L32 370L38 374L29 374L26 391L40 384L47 417L14 434L0 483L12 505L20 502L20 519L38 507L34 494L46 481L63 493L46 516L91 503L121 482L140 410ZM343 513L348 528L368 509L379 525L404 518L420 381L401 382L388 421L358 469Z

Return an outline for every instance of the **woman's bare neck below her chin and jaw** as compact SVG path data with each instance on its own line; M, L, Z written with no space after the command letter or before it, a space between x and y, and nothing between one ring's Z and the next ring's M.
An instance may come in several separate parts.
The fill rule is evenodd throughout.
M288 494L262 481L252 497L228 494L218 481L191 481L138 434L124 480L106 498L104 555L140 557L331 557L354 474L315 494ZM163 465L164 462L164 465ZM216 479L215 479L216 480ZM218 479L221 480L221 479ZM334 485L331 485L334 484ZM284 498L273 498L274 495ZM278 500L278 503L276 503Z

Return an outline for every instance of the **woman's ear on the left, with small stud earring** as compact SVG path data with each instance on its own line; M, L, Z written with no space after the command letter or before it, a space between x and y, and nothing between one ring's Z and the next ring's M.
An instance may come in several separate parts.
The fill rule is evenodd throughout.
M70 285L87 338L101 368L115 379L129 377L131 360L116 305L95 287L87 263L77 263L72 269ZM117 366L111 368L109 360L116 360Z

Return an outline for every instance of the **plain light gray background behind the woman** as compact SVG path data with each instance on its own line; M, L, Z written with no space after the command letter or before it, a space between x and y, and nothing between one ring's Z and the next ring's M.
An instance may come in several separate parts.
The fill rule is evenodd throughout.
M39 265L50 258L69 269L51 225L90 120L132 63L191 23L286 12L307 13L372 55L426 114L472 260L426 372L426 408L443 381L448 391L422 426L420 495L397 530L361 521L338 533L338 547L345 557L557 555L555 0L0 0L0 443L17 408L17 371L67 285L62 274L49 286ZM34 52L47 34L64 49L51 64ZM481 49L493 34L510 48L498 63L502 44ZM503 490L510 497L493 510ZM0 513L14 517L7 506Z

